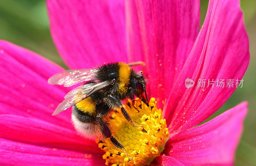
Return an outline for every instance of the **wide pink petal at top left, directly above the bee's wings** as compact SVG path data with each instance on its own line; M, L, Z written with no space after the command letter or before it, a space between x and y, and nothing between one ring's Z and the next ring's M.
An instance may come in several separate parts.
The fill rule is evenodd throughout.
M124 2L48 0L53 40L70 68L127 61Z

